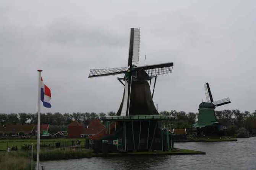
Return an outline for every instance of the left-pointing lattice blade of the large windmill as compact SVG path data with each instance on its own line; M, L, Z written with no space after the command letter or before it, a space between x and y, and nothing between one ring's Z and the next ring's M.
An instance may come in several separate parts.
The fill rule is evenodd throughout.
M127 67L91 69L88 78L122 74L125 73L126 70Z

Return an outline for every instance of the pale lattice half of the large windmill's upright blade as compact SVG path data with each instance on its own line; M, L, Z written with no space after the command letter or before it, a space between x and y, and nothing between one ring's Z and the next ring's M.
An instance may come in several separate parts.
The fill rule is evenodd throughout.
M133 65L139 64L140 28L133 32Z

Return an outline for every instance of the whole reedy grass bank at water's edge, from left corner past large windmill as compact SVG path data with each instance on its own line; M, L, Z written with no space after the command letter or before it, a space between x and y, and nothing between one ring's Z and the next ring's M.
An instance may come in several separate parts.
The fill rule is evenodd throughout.
M40 161L47 160L63 160L63 159L79 159L90 157L106 157L106 156L143 156L143 155L185 155L185 154L206 154L200 151L188 149L173 148L171 151L153 151L153 152L131 152L131 153L93 153L92 150L82 148L58 148L58 149L42 149L40 151ZM36 152L33 153L33 167L35 167ZM0 169L1 170L30 170L31 169L31 153L26 151L11 151L11 153L0 153Z

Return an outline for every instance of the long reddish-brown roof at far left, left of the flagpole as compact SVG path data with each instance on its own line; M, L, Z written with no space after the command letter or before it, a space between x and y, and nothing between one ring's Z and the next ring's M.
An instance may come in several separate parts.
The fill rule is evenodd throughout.
M0 133L31 133L34 130L34 125L5 125L0 126Z

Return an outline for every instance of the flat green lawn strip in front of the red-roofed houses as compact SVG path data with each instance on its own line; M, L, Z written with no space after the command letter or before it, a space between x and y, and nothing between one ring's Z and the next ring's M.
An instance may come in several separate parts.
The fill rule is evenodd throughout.
M80 140L81 141L81 146L84 146L84 138L55 138L55 139L41 139L40 143L42 144L46 144L46 145L53 145L55 146L56 142L71 142L72 140ZM9 148L11 148L12 146L17 146L18 150L21 149L21 146L23 146L24 144L26 145L31 145L31 143L36 144L37 140L36 139L10 139L8 140L8 146ZM6 150L7 148L7 140L0 140L0 150Z

